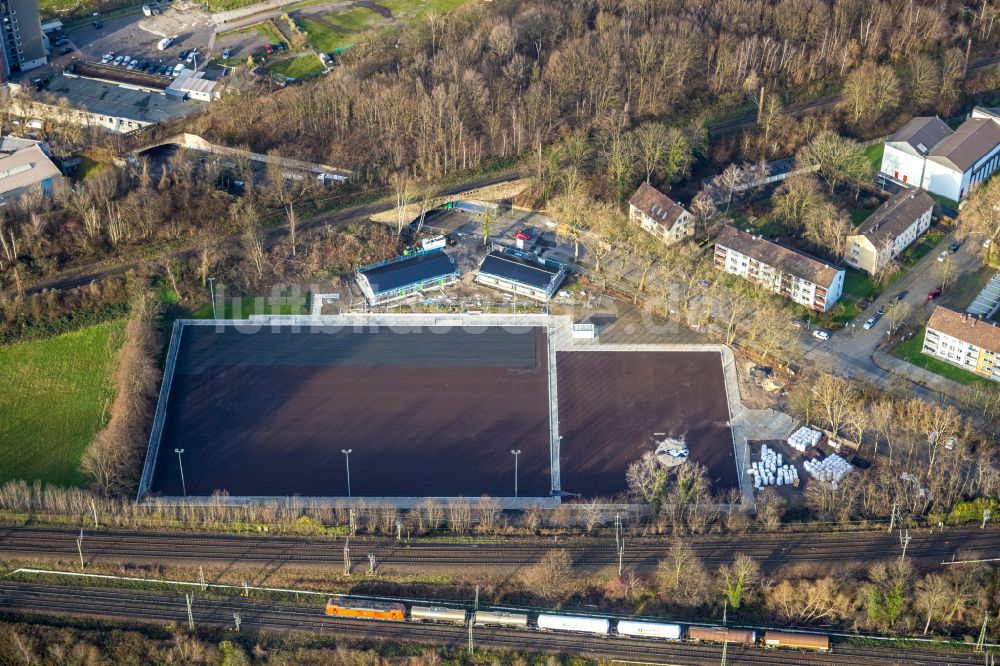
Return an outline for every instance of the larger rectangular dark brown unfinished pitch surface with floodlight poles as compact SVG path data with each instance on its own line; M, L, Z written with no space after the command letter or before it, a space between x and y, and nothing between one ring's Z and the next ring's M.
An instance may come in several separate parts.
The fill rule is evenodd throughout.
M540 329L188 326L154 493L548 496Z

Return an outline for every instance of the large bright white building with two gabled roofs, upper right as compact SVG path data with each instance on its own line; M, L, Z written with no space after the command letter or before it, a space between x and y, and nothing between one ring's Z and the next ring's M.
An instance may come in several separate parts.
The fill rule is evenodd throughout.
M917 117L886 139L881 172L910 187L961 201L1000 168L1000 119L973 114L954 132L937 117Z

